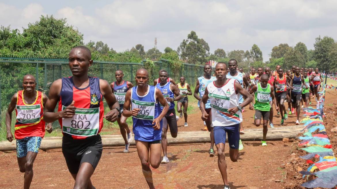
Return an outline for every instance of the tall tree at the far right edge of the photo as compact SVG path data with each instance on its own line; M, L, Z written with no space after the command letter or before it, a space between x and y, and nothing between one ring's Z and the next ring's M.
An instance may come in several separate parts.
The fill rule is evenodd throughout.
M335 67L333 62L329 59L329 51L334 45L335 40L331 37L325 36L321 38L320 36L316 38L314 43L314 60L319 64L319 68L322 70L329 70L331 67Z

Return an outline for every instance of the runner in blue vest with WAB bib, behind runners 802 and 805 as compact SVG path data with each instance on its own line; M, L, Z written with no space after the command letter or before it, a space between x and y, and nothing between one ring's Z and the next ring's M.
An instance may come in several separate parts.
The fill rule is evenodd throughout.
M123 111L123 105L124 105L124 100L125 100L125 94L126 91L128 91L130 88L133 87L131 82L124 81L123 80L124 74L122 70L117 70L115 72L115 78L116 81L110 84L110 87L112 89L112 92L115 94L118 103L119 103L119 109L121 112ZM119 126L119 130L121 131L122 137L125 142L125 149L123 150L124 153L129 152L129 146L130 143L132 142L132 133L129 129L129 126L126 123L126 117L123 116L122 113L117 118L117 123ZM126 131L126 132L125 132ZM126 136L127 134L127 136Z

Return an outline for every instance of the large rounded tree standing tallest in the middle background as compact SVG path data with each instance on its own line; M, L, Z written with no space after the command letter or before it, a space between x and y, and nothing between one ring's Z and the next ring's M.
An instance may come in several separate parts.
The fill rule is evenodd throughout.
M204 39L199 39L194 31L191 31L187 39L184 39L177 48L180 58L192 64L205 63L209 50L208 43Z

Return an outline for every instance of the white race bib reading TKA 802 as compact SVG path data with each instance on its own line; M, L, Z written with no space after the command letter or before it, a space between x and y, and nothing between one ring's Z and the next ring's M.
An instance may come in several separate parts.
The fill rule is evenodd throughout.
M62 106L62 110L66 109ZM98 108L76 108L71 118L62 118L62 132L74 136L97 135L99 129Z

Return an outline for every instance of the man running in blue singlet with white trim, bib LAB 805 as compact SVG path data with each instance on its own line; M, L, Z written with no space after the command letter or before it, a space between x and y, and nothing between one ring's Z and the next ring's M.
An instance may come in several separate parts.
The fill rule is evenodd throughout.
M146 69L136 72L136 87L126 92L123 107L125 117L132 116L134 140L142 163L142 172L149 188L154 188L152 171L160 166L161 160L161 119L168 110L168 104L161 91L148 85L149 73ZM160 111L160 105L164 107ZM131 105L131 110L129 110ZM149 158L150 156L150 158Z

